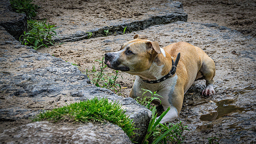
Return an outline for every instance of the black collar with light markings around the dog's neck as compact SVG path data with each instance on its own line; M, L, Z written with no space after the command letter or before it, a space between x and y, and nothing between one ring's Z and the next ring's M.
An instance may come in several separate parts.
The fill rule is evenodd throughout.
M146 83L160 83L160 82L163 82L164 80L168 79L169 77L173 76L175 73L176 73L176 69L177 69L177 64L180 60L180 53L177 54L177 57L176 57L176 60L175 62L172 60L172 69L170 70L170 72L163 76L161 79L159 80L143 80L144 82Z

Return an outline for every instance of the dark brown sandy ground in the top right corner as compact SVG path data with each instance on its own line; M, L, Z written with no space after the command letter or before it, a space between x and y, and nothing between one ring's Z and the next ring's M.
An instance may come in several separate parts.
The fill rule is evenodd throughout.
M256 36L255 0L178 0L188 13L188 22L217 23Z

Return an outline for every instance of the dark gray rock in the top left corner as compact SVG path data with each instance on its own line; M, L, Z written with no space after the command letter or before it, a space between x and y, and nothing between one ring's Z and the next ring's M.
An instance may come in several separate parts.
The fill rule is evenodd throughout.
M27 30L27 16L13 12L9 0L0 1L0 15L0 26L19 40L20 35Z

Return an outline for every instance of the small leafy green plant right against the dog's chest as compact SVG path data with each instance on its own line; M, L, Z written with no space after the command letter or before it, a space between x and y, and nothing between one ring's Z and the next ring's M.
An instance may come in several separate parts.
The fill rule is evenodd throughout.
M135 99L140 105L143 105L143 106L147 107L147 109L151 110L152 106L150 105L150 103L152 101L154 101L155 99L158 99L161 104L161 100L155 96L158 96L158 97L162 97L162 96L156 94L157 93L156 91L152 92L150 90L145 90L143 88L142 88L142 90L144 91L142 94L143 98L138 97ZM144 94L146 94L147 92L149 92L151 94L151 96L144 96Z

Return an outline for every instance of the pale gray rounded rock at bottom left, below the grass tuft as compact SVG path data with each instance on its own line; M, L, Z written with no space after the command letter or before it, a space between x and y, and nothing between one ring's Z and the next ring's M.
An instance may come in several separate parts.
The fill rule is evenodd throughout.
M86 144L131 144L127 134L117 125L107 124L54 124L33 122L0 134L1 143L86 143Z

